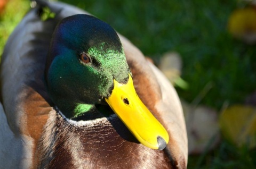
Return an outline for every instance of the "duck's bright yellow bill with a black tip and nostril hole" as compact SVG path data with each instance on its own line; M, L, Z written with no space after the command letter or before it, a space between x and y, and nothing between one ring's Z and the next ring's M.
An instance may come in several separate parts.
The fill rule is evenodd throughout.
M114 80L114 89L106 102L142 145L158 150L165 148L169 135L141 102L130 74L126 84Z

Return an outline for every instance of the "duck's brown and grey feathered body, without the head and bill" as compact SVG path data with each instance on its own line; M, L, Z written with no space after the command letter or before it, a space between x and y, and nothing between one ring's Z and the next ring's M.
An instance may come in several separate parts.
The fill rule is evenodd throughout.
M61 19L86 12L62 3L41 3L55 18L42 21L42 8L31 10L10 36L2 56L0 168L185 168L187 138L178 96L122 36L135 89L170 134L167 149L152 150L137 143L115 115L77 124L52 107L44 87L52 32Z

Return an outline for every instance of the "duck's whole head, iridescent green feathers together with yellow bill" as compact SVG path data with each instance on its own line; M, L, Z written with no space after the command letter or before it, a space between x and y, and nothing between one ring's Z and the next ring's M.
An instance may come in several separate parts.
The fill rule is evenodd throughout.
M55 28L45 81L53 103L69 119L108 104L143 145L161 150L169 141L135 92L117 33L93 16L69 16Z

